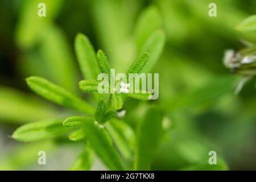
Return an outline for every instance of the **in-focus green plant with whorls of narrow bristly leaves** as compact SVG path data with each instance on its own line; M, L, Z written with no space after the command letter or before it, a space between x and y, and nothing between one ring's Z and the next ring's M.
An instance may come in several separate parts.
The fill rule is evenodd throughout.
M151 47L154 44L158 52L162 51L158 45L163 43L158 35L159 32L152 34L144 47L152 50ZM134 169L150 169L162 135L162 112L155 107L147 111L146 117L139 123L136 144L134 144L134 131L117 117L117 112L123 108L123 100L126 99L124 94L97 93L98 81L95 80L97 75L101 72L110 75L110 64L105 53L99 50L96 56L89 39L82 34L76 36L75 49L85 78L79 82L79 88L85 93L94 93L94 99L97 101L96 109L61 86L45 78L31 76L26 79L31 90L49 101L79 111L81 114L63 119L28 123L16 129L12 137L22 142L32 142L69 134L69 140L74 142L82 140L85 148L72 165L71 169L74 170L90 169L94 154L97 154L109 169L130 169L127 165L134 151ZM154 53L153 51L152 55ZM126 74L139 73L146 65L148 58L148 52L139 55ZM154 60L151 59L149 67L155 64L157 58L158 56L154 56ZM150 93L128 93L126 95L137 100L148 100ZM109 102L106 102L105 98Z

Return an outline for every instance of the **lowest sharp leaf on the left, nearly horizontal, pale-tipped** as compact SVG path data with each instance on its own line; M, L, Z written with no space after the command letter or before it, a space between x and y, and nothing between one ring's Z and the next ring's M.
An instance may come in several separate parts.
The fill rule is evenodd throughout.
M12 137L22 142L59 137L70 130L62 125L62 119L28 123L16 129Z

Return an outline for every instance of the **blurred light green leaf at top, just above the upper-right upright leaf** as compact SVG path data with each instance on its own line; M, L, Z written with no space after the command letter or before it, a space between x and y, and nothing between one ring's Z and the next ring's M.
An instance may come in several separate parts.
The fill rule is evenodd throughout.
M150 6L139 16L137 26L135 27L135 38L139 52L146 43L150 35L161 28L162 22L158 9Z

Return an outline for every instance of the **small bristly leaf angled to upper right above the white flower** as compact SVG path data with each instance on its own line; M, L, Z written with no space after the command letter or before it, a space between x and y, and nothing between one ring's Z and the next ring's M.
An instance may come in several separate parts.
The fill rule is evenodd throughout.
M139 73L148 60L148 52L144 52L139 55L131 64L130 68L126 72L126 75L129 73Z

